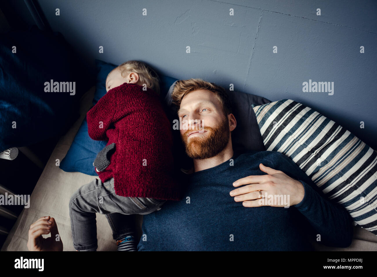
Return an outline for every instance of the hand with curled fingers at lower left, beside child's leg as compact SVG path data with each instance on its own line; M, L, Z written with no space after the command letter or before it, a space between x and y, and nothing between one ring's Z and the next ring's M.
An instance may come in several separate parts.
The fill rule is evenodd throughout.
M51 237L46 239L42 237L42 234L50 232ZM30 225L28 249L29 251L63 251L63 242L54 218L44 216Z

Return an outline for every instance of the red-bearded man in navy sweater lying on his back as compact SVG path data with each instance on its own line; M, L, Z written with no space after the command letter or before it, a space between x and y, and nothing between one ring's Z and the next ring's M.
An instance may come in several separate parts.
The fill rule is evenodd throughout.
M317 234L328 246L351 244L348 212L326 199L290 158L273 151L233 152L237 122L224 88L179 80L172 99L187 123L180 134L193 168L182 173L187 185L181 201L143 216L138 250L303 251L314 249L308 236L315 240ZM288 203L261 201L265 195L287 196Z

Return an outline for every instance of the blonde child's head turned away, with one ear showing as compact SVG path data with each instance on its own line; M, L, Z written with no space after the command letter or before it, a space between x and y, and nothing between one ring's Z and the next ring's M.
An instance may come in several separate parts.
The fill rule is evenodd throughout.
M156 72L144 62L127 61L115 67L106 78L106 92L124 83L146 84L147 88L160 93L159 78Z

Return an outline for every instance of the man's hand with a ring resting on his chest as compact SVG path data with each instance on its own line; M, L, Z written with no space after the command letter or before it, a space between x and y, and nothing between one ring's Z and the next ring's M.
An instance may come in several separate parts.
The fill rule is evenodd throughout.
M267 205L267 199L264 205L259 204L259 199L265 198L267 195L289 195L289 206L299 204L305 194L305 189L300 181L294 180L280 170L259 164L259 168L267 173L267 175L251 175L241 178L233 183L233 186L239 187L230 192L234 197L234 201L242 202L245 207L261 207ZM258 190L261 190L262 196ZM272 207L284 207L284 203L274 203Z

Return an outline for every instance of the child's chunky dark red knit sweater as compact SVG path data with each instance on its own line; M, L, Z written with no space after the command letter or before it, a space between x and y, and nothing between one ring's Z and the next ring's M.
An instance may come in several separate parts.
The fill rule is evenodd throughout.
M170 122L155 91L124 83L98 100L86 119L93 140L115 143L110 164L97 174L102 182L114 178L116 195L181 199Z

